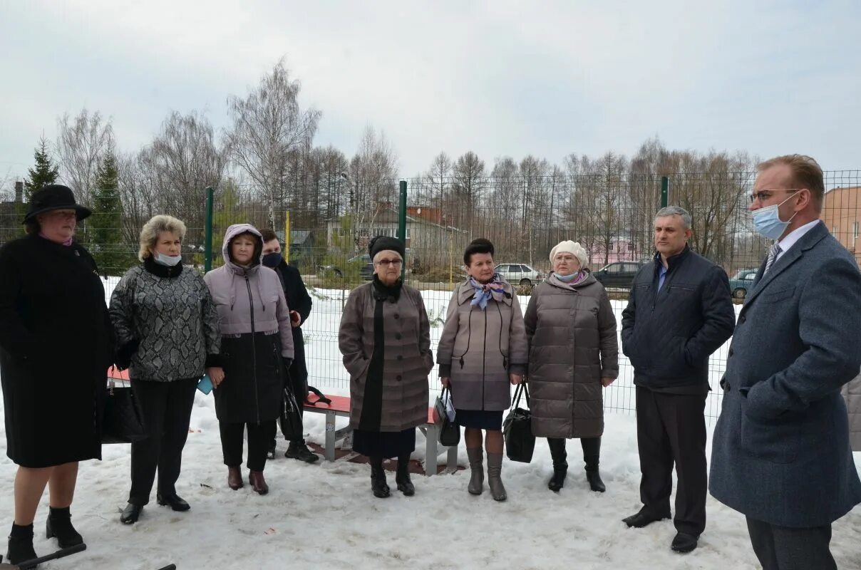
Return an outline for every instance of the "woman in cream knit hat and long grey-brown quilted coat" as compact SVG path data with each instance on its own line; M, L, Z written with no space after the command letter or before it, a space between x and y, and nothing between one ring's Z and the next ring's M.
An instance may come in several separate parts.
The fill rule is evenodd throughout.
M547 437L555 493L568 471L565 440L579 437L586 480L606 487L598 473L604 433L602 390L619 374L616 317L604 287L585 269L586 252L573 241L550 251L553 272L532 292L526 307L530 341L532 433Z

